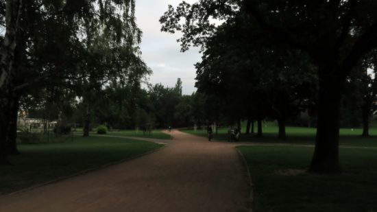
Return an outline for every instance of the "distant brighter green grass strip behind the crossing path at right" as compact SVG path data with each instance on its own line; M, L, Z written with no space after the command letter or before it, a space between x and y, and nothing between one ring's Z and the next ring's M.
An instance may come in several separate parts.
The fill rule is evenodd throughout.
M340 129L340 144L350 146L376 146L377 147L377 128L371 128L369 134L371 137L361 137L362 129ZM201 137L206 137L207 133L203 130L182 130L190 134L195 134ZM263 126L263 137L255 137L255 134L241 134L241 142L255 142L255 143L292 143L302 145L314 145L315 143L315 128L300 128L287 126L286 128L287 140L279 140L278 127L274 124L267 124ZM219 128L218 134L213 134L213 139L217 141L228 141L228 128Z

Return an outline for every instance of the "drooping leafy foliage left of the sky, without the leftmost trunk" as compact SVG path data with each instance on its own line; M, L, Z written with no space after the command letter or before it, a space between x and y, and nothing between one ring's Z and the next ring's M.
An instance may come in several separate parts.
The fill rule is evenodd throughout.
M30 102L45 110L43 119L60 113L70 119L66 108L79 99L89 124L94 107L89 102L104 84L137 87L151 73L138 49L133 0L23 1L21 7L23 34L16 38L10 93L27 99L26 110Z

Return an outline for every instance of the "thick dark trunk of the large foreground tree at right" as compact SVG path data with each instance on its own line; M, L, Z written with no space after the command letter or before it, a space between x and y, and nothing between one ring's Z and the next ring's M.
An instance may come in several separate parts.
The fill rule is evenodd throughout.
M334 69L319 69L317 137L310 172L340 172L339 113L341 79Z

